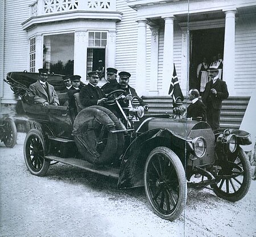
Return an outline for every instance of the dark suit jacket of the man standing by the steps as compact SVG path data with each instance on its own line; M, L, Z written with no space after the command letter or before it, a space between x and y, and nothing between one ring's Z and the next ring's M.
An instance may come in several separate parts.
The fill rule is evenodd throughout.
M217 95L213 95L210 90L214 88L217 91ZM222 100L228 99L229 92L228 87L226 86L226 82L221 81L221 79L217 79L217 81L213 84L212 80L207 82L205 85L205 90L203 92L202 100L203 103L208 107L212 104L214 109L221 109Z

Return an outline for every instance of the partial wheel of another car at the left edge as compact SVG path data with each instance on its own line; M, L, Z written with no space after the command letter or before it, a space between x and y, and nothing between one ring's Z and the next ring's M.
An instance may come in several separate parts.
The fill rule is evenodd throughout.
M5 119L5 134L3 135L3 143L5 146L13 148L17 141L17 129L15 122L11 118Z

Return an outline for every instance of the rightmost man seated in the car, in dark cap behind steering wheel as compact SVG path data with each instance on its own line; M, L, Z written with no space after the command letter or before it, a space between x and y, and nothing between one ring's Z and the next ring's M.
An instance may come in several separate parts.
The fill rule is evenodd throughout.
M129 79L131 77L130 73L127 73L127 71L121 71L119 74L119 83L117 86L115 86L114 90L124 90L125 91L125 96L126 100L125 101L120 101L120 105L122 108L127 108L129 105L129 100L133 98L133 96L138 96L137 92L135 89L131 86L129 86ZM113 90L113 91L114 91ZM138 96L139 98L139 96ZM147 111L148 110L148 105L144 103L144 101L139 98L139 104L143 106L143 108Z

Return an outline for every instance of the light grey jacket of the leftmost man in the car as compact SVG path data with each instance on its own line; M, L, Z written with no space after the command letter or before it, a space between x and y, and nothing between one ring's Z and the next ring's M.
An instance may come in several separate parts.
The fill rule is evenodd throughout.
M47 101L49 104L60 104L54 87L48 82L46 82L46 87L47 88L45 90L39 81L30 85L30 91L35 95L35 103L43 104Z

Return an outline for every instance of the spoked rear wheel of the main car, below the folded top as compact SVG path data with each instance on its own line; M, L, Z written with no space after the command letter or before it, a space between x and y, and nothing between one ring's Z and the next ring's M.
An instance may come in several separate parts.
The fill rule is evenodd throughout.
M45 159L46 146L42 133L30 130L24 141L24 159L28 170L36 176L44 176L48 171L50 160Z

